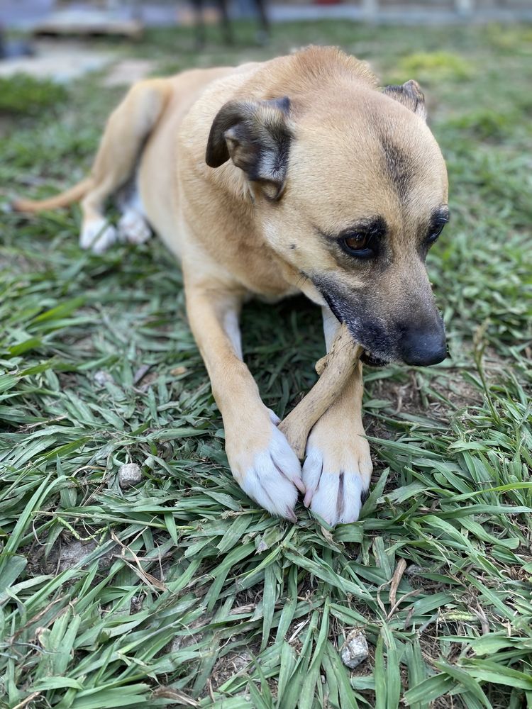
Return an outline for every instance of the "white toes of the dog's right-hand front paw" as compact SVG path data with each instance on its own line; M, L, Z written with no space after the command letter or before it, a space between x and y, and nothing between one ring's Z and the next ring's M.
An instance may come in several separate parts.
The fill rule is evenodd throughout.
M303 466L304 504L330 525L356 522L370 484L371 459L336 460L326 450L309 447Z

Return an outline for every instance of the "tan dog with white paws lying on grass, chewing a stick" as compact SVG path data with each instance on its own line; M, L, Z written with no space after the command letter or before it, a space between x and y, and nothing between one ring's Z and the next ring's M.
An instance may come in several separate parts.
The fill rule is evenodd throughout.
M104 201L127 182L118 232ZM358 518L372 462L362 366L318 420L303 470L242 361L251 296L300 291L344 320L372 364L434 364L445 333L424 260L448 220L447 174L415 82L377 88L336 48L135 84L109 118L92 176L21 211L82 199L81 245L150 235L182 262L189 322L226 430L233 476L295 519L297 491L329 523Z

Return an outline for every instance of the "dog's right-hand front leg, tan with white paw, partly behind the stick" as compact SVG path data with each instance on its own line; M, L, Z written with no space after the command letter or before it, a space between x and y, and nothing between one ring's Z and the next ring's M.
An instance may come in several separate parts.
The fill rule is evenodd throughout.
M323 308L327 351L340 327ZM331 525L358 520L370 485L370 446L362 425L362 363L358 362L343 393L318 420L306 444L303 481L305 505Z

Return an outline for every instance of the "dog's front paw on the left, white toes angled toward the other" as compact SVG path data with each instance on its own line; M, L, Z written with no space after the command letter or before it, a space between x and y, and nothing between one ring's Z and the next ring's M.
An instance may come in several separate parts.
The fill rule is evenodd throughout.
M272 515L297 521L297 491L304 493L301 464L287 439L277 428L279 419L268 410L259 445L245 436L227 438L227 455L235 480L243 491Z

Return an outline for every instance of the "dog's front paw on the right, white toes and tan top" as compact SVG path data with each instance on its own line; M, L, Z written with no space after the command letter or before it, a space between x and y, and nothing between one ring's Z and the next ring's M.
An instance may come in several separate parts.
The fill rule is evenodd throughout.
M321 440L319 440L321 439ZM356 522L370 486L372 462L365 438L309 437L303 466L304 505L330 525Z

